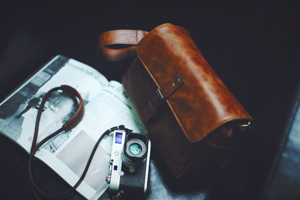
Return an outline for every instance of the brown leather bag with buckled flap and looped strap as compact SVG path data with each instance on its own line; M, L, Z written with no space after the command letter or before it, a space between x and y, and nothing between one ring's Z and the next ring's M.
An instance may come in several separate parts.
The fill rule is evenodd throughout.
M209 175L247 139L253 118L184 28L107 31L99 36L98 55L110 61L137 55L122 84L175 177Z

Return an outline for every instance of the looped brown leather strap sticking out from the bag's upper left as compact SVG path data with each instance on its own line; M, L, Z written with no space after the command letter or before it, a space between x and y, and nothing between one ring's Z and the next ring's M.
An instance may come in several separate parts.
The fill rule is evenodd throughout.
M148 34L142 30L113 30L106 31L98 37L98 56L107 61L120 61L137 55L137 44ZM126 48L111 48L115 44L128 44Z

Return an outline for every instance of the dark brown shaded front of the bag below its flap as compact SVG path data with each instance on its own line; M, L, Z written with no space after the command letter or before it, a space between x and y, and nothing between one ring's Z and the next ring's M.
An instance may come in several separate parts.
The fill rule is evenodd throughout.
M139 74L139 76L135 76L135 74ZM132 88L132 90L127 91L132 103L136 105L143 102L140 106L141 109L153 97L151 92L145 91L155 91L157 89L139 58L134 60L128 72L123 76L122 81L126 81L127 85L125 85L125 88ZM137 82L145 84L143 84L143 87L140 87L136 84ZM158 147L162 160L176 177L184 176L196 179L197 176L203 175L201 181L205 181L205 179L212 176L208 172L213 168L215 169L216 165L222 163L241 144L235 143L235 145L226 146L230 148L218 148L217 145L216 147L210 145L208 142L213 137L216 139L221 138L224 142L225 139L234 140L233 136L239 136L239 134L232 134L229 137L225 137L217 134L218 130L199 142L190 142L185 137L167 105L161 106L160 114L150 120L146 124L146 128L150 138ZM187 165L189 167L186 167ZM186 184L186 182L182 183Z

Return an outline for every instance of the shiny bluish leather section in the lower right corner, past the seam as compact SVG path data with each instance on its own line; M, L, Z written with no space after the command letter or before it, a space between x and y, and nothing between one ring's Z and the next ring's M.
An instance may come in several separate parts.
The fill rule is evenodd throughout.
M266 181L262 199L300 198L300 109L298 99L293 113L295 118L286 129L280 142L273 166ZM283 192L284 191L284 192Z

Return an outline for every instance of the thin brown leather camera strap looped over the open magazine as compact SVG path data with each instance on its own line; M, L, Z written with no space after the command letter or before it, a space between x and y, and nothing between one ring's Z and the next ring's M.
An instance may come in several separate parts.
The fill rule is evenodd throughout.
M38 145L36 145L37 139L38 139L39 124L40 124L41 115L42 115L42 112L44 110L44 105L46 103L46 100L51 96L51 94L54 91L58 91L58 90L62 90L64 92L67 92L68 94L71 94L71 95L74 95L75 97L77 97L79 99L79 106L78 106L76 112L72 115L72 117L68 121L66 121L60 129L58 129L54 133L47 136L45 139L43 139L41 142L39 142ZM101 137L98 139L98 141L96 142L95 147L93 148L93 151L91 152L91 155L90 155L90 157L88 159L88 162L85 166L85 169L84 169L81 177L77 181L77 183L65 193L61 193L61 194L57 194L57 195L52 195L52 194L45 193L44 191L42 191L41 189L39 189L37 187L37 185L35 184L34 178L32 176L32 165L31 164L32 164L32 160L34 158L34 155L38 151L38 149L45 142L47 142L49 139L57 136L62 131L68 131L68 130L71 130L72 128L76 127L79 124L79 122L81 121L83 115L84 115L84 103L83 103L82 97L80 96L78 91L76 91L76 89L74 89L74 88L72 88L68 85L61 85L60 87L56 87L56 88L53 88L53 89L49 90L45 94L43 100L41 101L41 105L40 105L40 108L38 110L37 120L36 120L36 124L35 124L35 132L34 132L34 136L33 136L32 146L31 146L31 150L30 150L30 154L29 154L29 162L28 162L29 180L30 180L30 183L31 183L30 185L31 185L31 188L32 188L32 192L34 193L34 195L37 199L57 199L57 198L65 197L65 196L69 195L70 193L72 193L73 191L75 191L76 188L83 181L83 179L84 179L84 177L85 177L85 175L88 171L88 167L91 164L92 158L94 157L94 154L95 154L95 152L98 148L98 145L100 144L100 142L104 138L104 136L109 135L114 130L125 130L128 133L132 132L132 130L129 130L129 129L125 128L124 125L121 125L121 126L118 126L118 127L113 127L113 128L110 128L109 130L105 131L101 135Z

